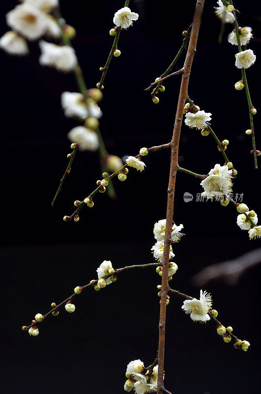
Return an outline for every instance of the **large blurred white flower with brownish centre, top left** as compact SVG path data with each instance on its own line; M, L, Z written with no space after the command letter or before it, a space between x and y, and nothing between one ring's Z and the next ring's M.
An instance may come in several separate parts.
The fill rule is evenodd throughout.
M41 37L47 29L46 15L30 4L17 5L6 14L6 23L29 40Z

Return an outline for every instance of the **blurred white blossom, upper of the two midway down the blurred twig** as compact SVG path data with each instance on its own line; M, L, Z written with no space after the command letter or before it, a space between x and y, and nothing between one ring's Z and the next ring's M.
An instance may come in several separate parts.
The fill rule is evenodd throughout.
M61 106L64 109L64 115L67 118L74 116L81 119L84 116L100 118L102 116L102 112L95 102L90 103L87 107L87 103L81 93L63 92L61 94Z

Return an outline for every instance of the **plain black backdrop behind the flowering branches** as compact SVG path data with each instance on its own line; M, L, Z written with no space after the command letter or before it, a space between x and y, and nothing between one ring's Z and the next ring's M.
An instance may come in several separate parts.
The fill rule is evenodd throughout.
M8 28L5 14L17 3L2 2L1 35ZM60 1L66 22L74 26L73 41L88 87L100 79L113 38L113 16L123 1ZM220 21L206 1L203 25L189 84L190 98L212 113L212 128L229 139L227 154L238 171L234 193L258 215L260 170L255 170L244 91L235 91L241 72L234 66L236 47L227 41L232 25L225 26L217 43ZM249 47L260 53L261 6L236 1L240 26L251 26ZM120 34L119 58L113 58L106 76L101 132L108 151L120 157L137 155L143 146L169 142L172 136L180 77L164 83L155 105L144 89L169 66L182 42L182 31L192 22L195 1L133 0L139 13L133 27ZM114 268L153 262L153 225L166 215L169 152L145 158L142 173L129 170L125 182L114 182L117 200L95 196L92 209L83 208L78 223L62 217L74 211L101 178L97 154L78 152L55 206L51 201L66 168L70 142L66 134L77 126L60 108L63 91L76 91L72 74L41 67L37 42L30 56L15 58L1 52L2 95L2 326L4 389L9 393L123 393L129 361L152 363L158 346L160 277L154 269L123 273L115 284L100 292L90 289L75 298L76 311L62 307L57 318L39 324L39 335L21 330L51 302L60 302L96 278L96 268L111 260ZM174 70L183 65L184 54ZM260 57L247 70L253 104L257 149L260 131ZM207 173L223 164L211 136L182 127L179 164ZM259 159L259 158L258 158ZM261 165L261 164L260 164ZM173 246L178 271L171 287L192 296L200 289L191 277L202 267L234 259L260 247L236 225L237 213L219 202L196 201L200 181L178 174L174 220L186 235ZM194 196L184 201L184 193ZM167 307L165 387L172 393L256 394L260 361L260 267L247 271L233 287L223 281L209 283L219 319L251 343L248 352L233 349L216 333L212 322L195 324L181 310L183 301L171 296Z

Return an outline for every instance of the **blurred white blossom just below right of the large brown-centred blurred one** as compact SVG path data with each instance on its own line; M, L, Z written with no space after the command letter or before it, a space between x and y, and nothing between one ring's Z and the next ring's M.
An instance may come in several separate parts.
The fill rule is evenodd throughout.
M39 42L42 54L39 62L42 66L51 66L59 71L69 72L74 69L77 64L74 49L68 45L59 46L41 40Z

